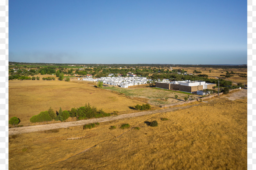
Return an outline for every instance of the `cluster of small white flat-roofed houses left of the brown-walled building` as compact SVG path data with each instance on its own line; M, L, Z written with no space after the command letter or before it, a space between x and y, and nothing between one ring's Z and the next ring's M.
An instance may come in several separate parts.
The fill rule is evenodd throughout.
M133 85L147 84L151 79L146 77L101 77L101 78L83 78L84 81L103 82L108 85L116 85L122 88L128 88Z

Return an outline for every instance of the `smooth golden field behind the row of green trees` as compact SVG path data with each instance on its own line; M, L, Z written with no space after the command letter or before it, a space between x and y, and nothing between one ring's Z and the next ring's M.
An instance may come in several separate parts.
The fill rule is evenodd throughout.
M62 110L70 110L72 107L90 103L107 113L113 111L131 113L134 110L129 106L144 104L144 102L95 88L94 85L59 80L9 80L9 118L16 116L21 120L19 125L28 126L32 116L50 107L54 111L59 111L59 107Z

